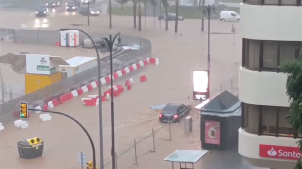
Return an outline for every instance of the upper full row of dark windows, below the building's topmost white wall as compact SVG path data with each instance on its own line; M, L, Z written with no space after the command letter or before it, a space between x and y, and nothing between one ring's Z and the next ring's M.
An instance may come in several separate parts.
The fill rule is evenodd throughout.
M242 65L250 70L279 72L283 62L298 59L302 54L302 42L250 39L243 42Z

